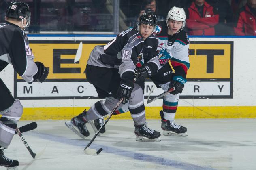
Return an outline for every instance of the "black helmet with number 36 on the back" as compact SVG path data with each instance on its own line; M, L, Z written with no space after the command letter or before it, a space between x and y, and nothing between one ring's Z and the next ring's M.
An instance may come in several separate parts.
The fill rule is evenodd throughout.
M9 8L6 11L6 17L15 18L19 20L27 19L26 27L30 24L31 11L26 2L12 1ZM25 27L25 28L26 28Z

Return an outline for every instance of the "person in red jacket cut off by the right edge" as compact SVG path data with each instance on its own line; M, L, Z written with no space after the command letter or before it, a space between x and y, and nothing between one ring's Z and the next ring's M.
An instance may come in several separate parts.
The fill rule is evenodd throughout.
M256 36L256 0L241 8L234 31L237 36Z

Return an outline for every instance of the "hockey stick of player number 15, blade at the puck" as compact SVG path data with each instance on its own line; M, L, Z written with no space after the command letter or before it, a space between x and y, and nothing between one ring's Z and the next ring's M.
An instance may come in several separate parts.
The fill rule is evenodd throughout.
M93 138L91 139L91 141L88 143L88 145L85 147L85 149L83 150L84 153L86 153L87 155L95 155L95 153L97 153L97 155L103 150L102 148L100 148L98 151L96 149L91 149L89 148L90 145L92 144L92 142L94 141L94 139L98 136L98 134L100 133L100 130L105 127L105 125L107 124L107 122L109 121L109 119L111 118L111 116L113 115L113 113L115 112L115 110L117 109L117 107L122 103L122 101L124 100L124 97L122 97L117 105L115 106L115 108L113 109L113 111L110 113L109 117L107 118L107 120L104 122L104 124L100 127L100 129L98 130L98 132L93 136Z

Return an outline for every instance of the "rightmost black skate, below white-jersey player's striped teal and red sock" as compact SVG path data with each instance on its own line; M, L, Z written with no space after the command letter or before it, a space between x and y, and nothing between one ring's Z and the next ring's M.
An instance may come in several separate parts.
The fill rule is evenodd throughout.
M176 124L174 120L166 120L164 119L164 113L161 110L160 111L160 116L161 116L161 122L162 122L162 130L163 130L163 135L165 136L188 136L187 128L184 126L181 126L179 124Z

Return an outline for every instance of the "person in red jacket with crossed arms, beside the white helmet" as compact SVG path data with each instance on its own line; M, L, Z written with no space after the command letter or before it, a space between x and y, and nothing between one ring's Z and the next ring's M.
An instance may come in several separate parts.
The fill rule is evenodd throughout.
M187 16L189 35L215 35L214 26L219 23L219 15L205 0L194 0L187 9Z

